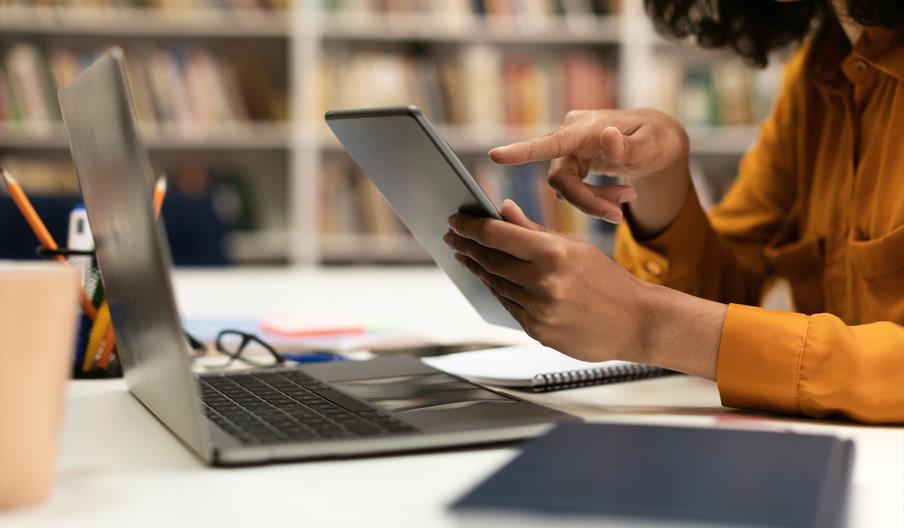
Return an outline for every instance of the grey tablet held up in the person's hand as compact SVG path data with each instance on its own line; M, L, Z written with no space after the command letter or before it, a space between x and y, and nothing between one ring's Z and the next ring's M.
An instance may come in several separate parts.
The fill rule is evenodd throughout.
M327 112L327 125L402 223L489 323L521 328L443 244L456 212L502 219L458 156L413 106Z

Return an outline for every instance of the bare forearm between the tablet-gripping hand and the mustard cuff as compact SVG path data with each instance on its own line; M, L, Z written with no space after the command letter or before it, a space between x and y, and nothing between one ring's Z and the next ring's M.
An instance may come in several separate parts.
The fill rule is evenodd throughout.
M727 306L653 284L642 291L644 323L633 359L716 379Z

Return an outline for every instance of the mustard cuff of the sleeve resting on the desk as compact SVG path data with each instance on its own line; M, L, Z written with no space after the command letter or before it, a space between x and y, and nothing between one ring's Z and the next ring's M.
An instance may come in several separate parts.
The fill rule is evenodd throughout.
M809 321L803 314L730 304L716 367L722 405L800 412L800 365Z

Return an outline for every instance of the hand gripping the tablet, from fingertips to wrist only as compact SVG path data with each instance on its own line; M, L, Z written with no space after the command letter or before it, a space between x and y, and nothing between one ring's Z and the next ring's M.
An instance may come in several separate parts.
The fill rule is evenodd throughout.
M455 215L443 240L537 341L585 361L634 358L643 284L596 246L533 223L514 202L502 214L510 223Z

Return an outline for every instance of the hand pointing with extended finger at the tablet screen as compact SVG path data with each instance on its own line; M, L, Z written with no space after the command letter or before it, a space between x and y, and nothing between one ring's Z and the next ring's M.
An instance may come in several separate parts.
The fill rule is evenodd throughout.
M490 157L505 164L551 160L547 180L558 195L613 223L622 219L620 204L633 201L631 212L645 235L671 223L690 182L687 134L650 109L575 110L554 133L497 147ZM589 173L625 178L631 187L589 185Z

